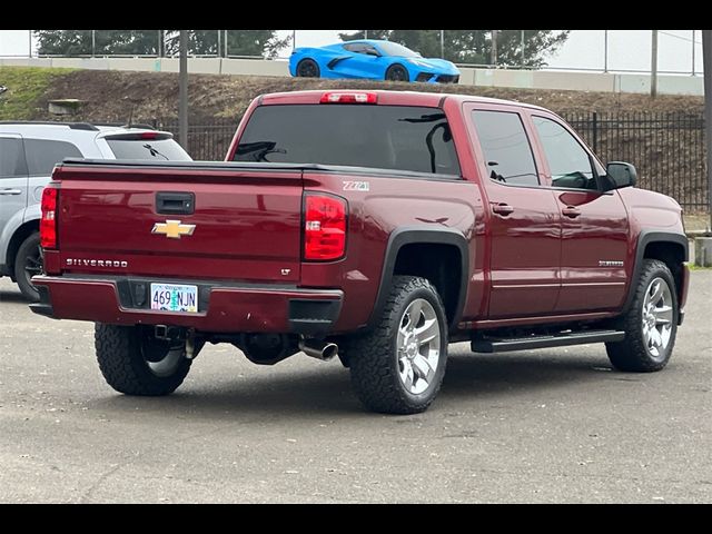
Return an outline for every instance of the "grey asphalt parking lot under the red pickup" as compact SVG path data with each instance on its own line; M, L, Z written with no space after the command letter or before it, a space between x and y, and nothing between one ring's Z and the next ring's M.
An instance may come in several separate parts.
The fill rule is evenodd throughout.
M455 345L433 407L394 417L337 362L227 346L170 397L118 395L92 325L36 316L0 279L0 502L710 502L711 303L694 271L662 373L613 372L596 345Z

